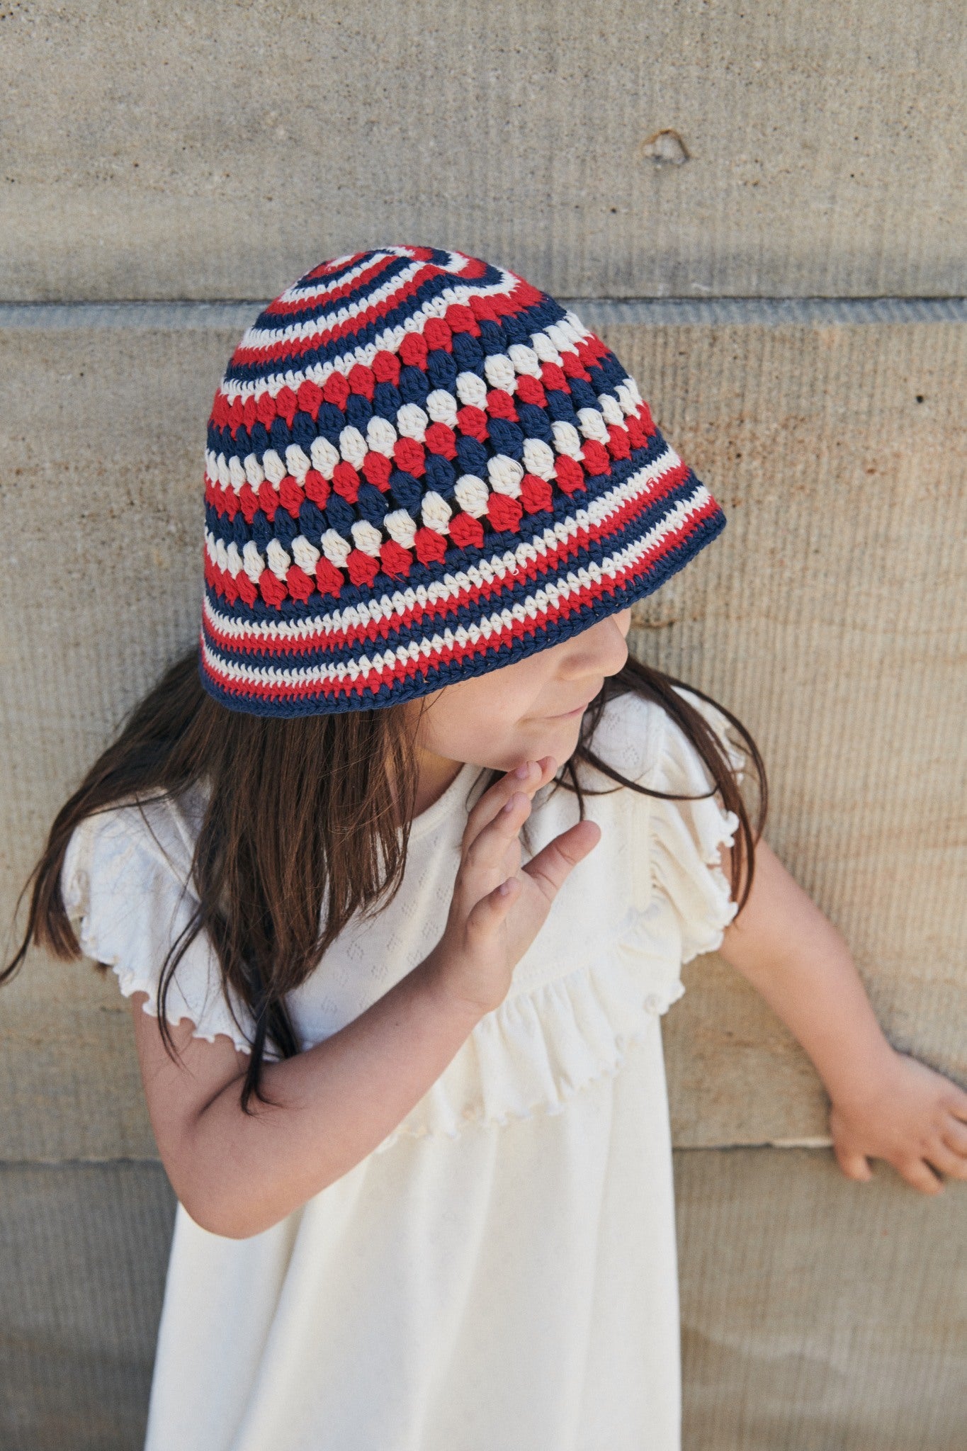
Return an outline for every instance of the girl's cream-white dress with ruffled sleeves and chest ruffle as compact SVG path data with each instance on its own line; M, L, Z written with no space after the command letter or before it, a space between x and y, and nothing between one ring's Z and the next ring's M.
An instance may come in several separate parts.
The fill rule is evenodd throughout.
M722 717L690 699L725 739ZM660 791L712 784L638 696L609 707L597 749ZM476 776L464 768L415 820L399 895L346 929L293 994L304 1046L438 940ZM715 797L618 789L587 808L602 842L507 998L373 1154L251 1239L207 1233L178 1206L148 1451L676 1451L660 1014L683 991L681 962L716 948L735 914L718 849L738 821ZM576 810L545 788L532 850ZM146 817L151 830L133 807L83 823L62 876L84 952L125 994L154 994L187 913L191 813L154 804ZM207 940L175 982L173 1022L245 1048Z

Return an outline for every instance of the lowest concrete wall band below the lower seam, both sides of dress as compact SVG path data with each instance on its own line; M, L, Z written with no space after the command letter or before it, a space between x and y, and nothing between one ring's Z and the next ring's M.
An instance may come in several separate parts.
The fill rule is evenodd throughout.
M961 1451L963 1188L754 1149L676 1180L687 1451ZM0 1167L4 1451L138 1451L171 1213L154 1164Z

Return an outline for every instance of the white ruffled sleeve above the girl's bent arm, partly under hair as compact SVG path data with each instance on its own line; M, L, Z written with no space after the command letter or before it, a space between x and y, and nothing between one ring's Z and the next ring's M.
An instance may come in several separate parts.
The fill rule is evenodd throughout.
M158 978L168 949L196 907L191 846L174 802L120 805L87 817L74 830L61 871L61 894L81 950L113 968L125 997L146 992L157 1017ZM231 1001L231 1006L229 1006ZM188 1019L194 1037L231 1037L249 1051L251 1019L222 991L217 956L200 933L171 979L165 1019Z

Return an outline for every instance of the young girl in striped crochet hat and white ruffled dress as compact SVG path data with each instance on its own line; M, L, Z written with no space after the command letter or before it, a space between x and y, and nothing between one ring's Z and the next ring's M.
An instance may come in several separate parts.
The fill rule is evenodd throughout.
M757 839L752 740L628 657L722 525L499 267L336 258L242 340L200 651L59 813L12 965L132 1001L180 1201L151 1451L673 1451L660 1014L696 953L805 1045L844 1172L967 1178L967 1094Z

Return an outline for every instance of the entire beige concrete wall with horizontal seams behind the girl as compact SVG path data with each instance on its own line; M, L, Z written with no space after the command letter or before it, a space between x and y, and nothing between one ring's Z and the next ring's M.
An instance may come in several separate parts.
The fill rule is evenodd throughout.
M206 400L255 312L219 299L442 241L581 299L722 501L635 647L748 723L773 846L967 1082L966 33L879 0L6 6L3 920L194 633ZM722 962L687 981L686 1445L955 1451L967 1194L764 1148L822 1139L815 1075ZM35 958L0 1037L0 1444L129 1451L171 1197L126 1010Z

